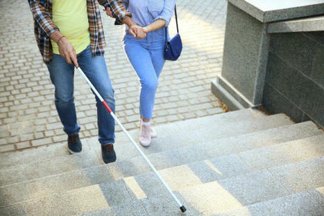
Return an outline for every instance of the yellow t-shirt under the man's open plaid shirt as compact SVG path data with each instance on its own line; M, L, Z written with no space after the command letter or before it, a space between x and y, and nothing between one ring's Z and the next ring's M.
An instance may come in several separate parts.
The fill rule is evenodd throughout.
M53 0L53 22L60 33L69 40L76 53L85 50L90 44L87 0ZM51 40L53 53L60 54L58 44Z

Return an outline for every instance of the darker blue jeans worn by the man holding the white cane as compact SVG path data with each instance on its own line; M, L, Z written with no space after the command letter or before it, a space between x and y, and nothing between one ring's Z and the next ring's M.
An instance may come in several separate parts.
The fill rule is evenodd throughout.
M114 112L114 90L108 76L105 58L92 56L90 47L78 53L78 64L94 88L101 94ZM76 120L76 107L74 105L74 65L70 65L62 56L53 54L52 61L47 65L51 82L55 86L55 105L58 115L67 135L80 131ZM114 119L96 97L98 115L99 142L101 144L114 143Z

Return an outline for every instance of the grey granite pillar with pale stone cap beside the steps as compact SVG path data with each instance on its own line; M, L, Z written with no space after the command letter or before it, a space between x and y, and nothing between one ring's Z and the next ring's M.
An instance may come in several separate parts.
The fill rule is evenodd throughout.
M268 24L324 13L324 1L228 0L223 68L212 92L231 110L262 105Z

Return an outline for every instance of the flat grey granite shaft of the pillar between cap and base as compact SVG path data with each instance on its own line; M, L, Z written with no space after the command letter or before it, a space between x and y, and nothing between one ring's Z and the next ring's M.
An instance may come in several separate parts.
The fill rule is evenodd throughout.
M267 37L264 24L228 4L221 76L255 105L261 103Z

